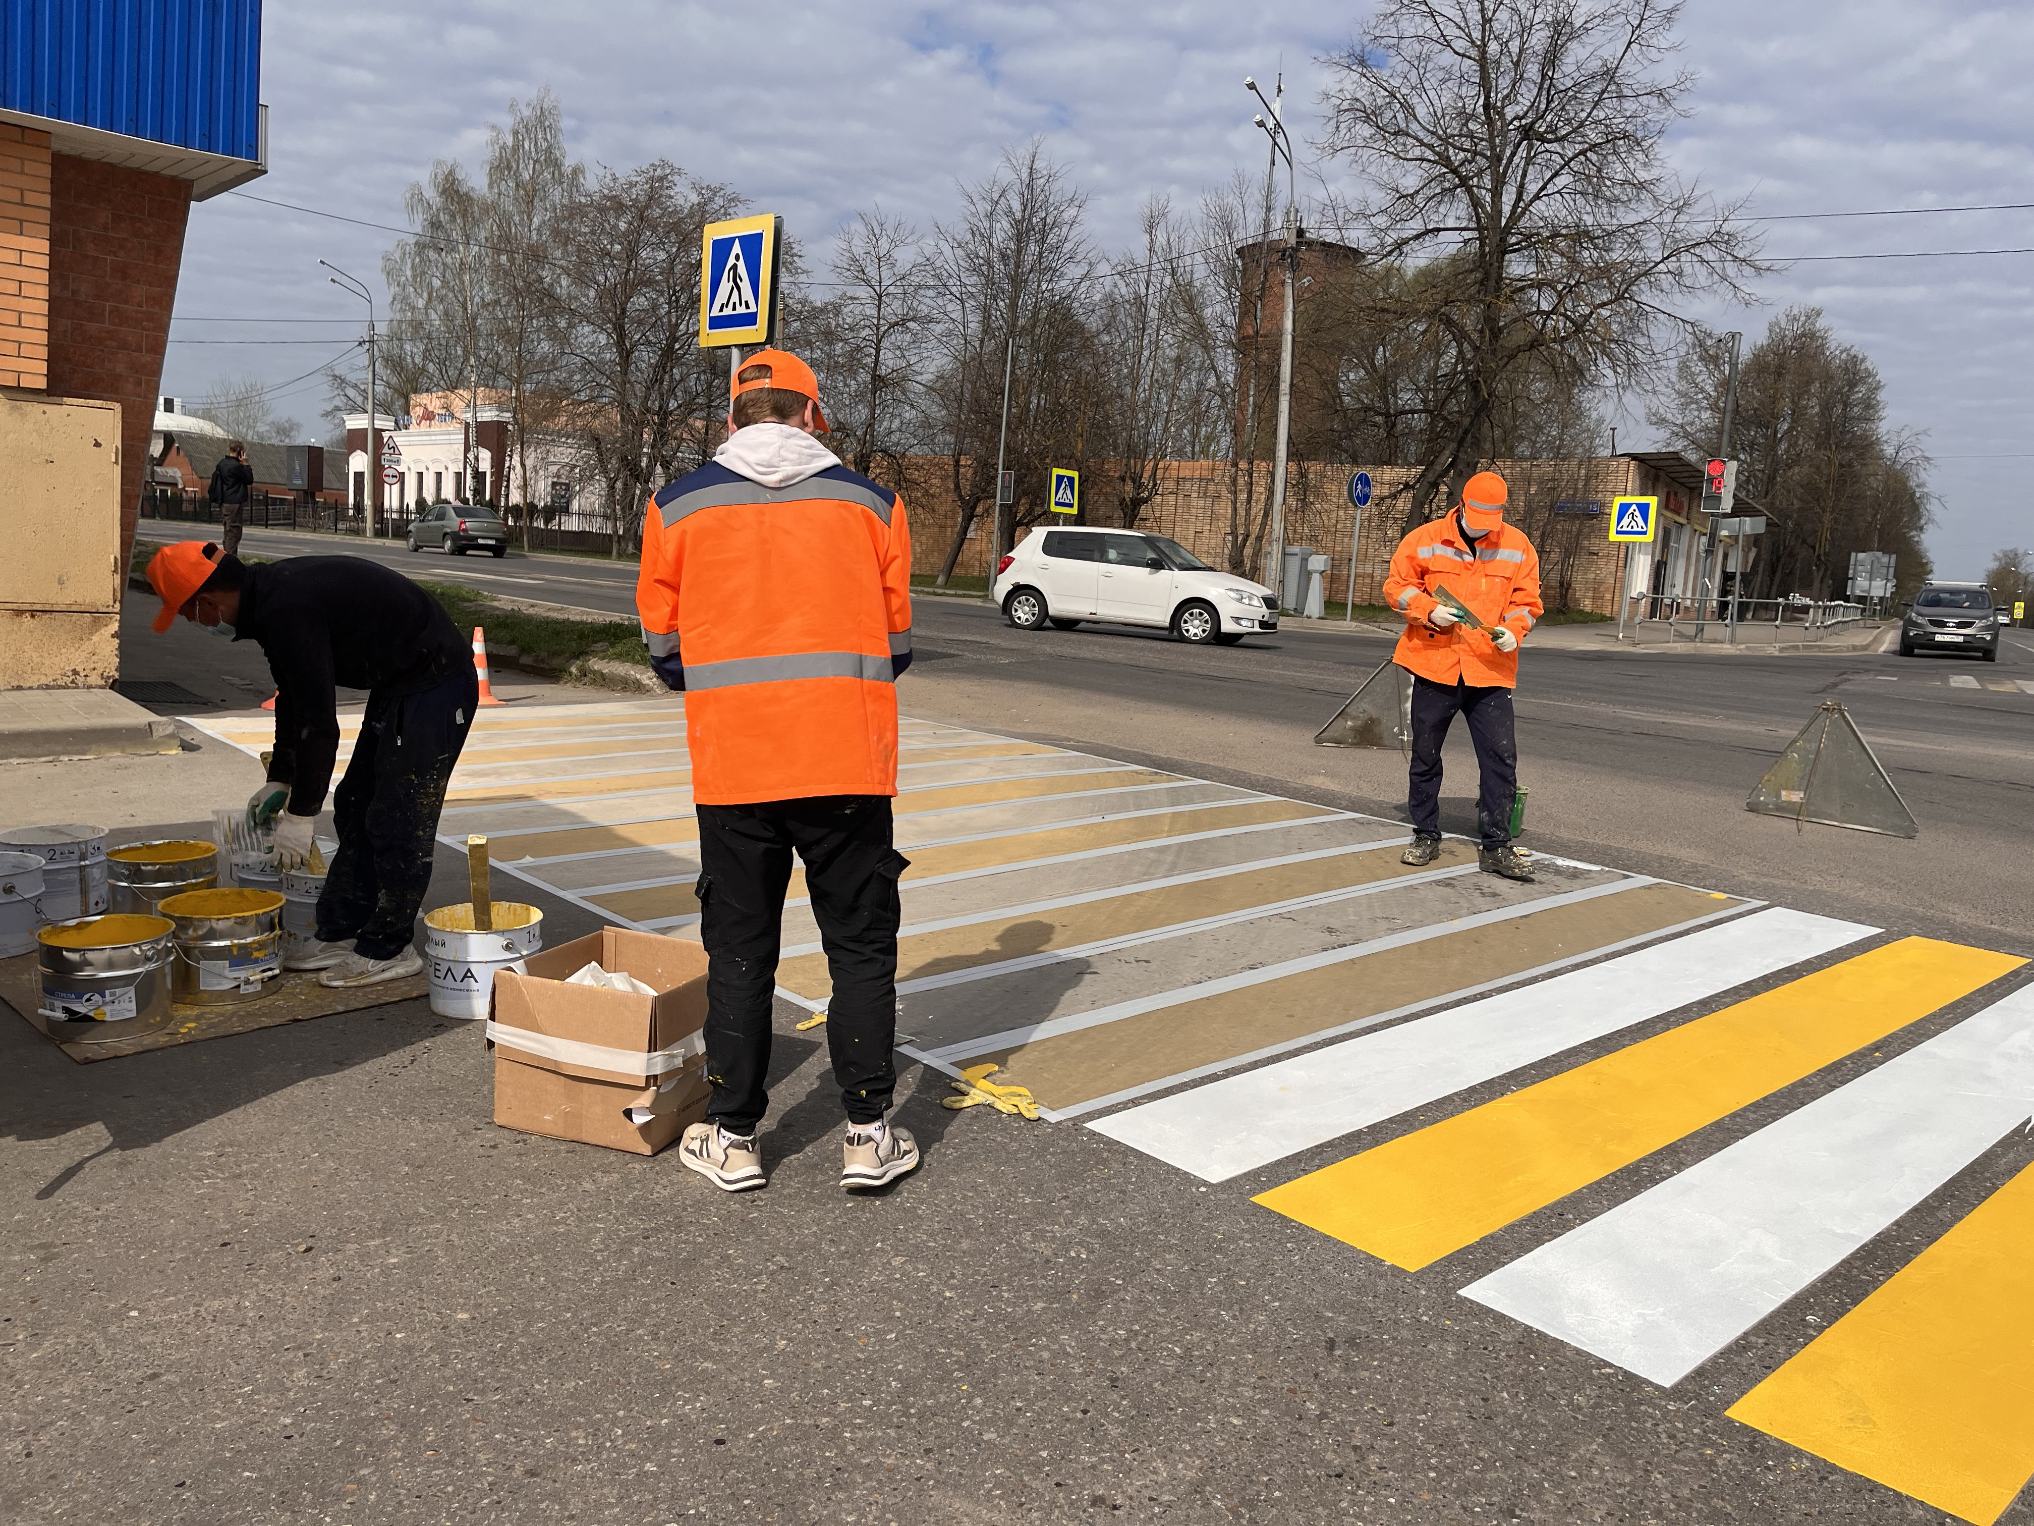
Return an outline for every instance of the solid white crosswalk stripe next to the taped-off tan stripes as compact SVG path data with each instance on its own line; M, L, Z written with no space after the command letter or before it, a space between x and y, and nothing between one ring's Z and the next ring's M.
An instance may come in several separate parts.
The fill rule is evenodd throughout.
M1806 912L1757 912L1088 1127L1204 1182L1227 1182L1873 932Z

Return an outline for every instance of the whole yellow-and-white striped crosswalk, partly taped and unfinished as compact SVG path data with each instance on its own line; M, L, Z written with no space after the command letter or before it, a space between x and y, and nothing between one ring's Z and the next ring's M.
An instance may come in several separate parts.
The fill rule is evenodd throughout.
M268 716L193 724L273 737ZM1517 885L1458 840L1414 869L1393 822L925 720L899 730L895 824L905 1054L993 1062L1050 1121L1237 1182L1389 1276L1460 1288L1456 1251L1725 1125L1460 1288L1652 1382L1733 1349L2034 1111L2034 987L1983 948L1556 859ZM698 938L675 698L484 712L441 832ZM830 997L801 877L777 979ZM1912 1044L1916 1023L1940 1032ZM1849 1080L1820 1082L1837 1064ZM2034 1286L1997 1266L2030 1221L2034 1186L2001 1188L1733 1414L1989 1522L2034 1469Z

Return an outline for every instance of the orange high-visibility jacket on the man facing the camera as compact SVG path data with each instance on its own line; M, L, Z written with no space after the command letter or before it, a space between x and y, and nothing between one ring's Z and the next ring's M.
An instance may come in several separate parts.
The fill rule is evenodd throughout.
M1473 543L1462 535L1462 523L1448 515L1399 541L1385 578L1385 602L1405 617L1391 661L1436 684L1460 680L1475 688L1517 688L1519 655L1515 649L1499 651L1489 631L1471 631L1469 625L1428 629L1428 610L1440 602L1436 588L1446 588L1485 625L1509 625L1523 639L1546 610L1540 602L1540 553L1525 531L1507 519Z

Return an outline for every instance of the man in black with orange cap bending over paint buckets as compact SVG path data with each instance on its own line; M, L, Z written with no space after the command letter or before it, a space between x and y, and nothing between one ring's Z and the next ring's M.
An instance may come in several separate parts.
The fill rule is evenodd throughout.
M275 753L246 804L248 826L275 832L275 863L297 869L340 749L336 688L368 692L346 777L332 796L340 848L317 899L317 942L287 969L319 985L401 981L423 971L415 924L431 885L445 783L474 720L472 647L409 578L364 557L301 555L248 566L218 545L179 541L148 562L177 614L258 641L275 676Z

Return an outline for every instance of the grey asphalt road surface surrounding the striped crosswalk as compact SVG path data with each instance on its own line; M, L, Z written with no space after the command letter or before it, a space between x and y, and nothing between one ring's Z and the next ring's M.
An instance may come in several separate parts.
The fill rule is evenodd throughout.
M631 568L472 562L427 568L626 608ZM1949 686L2034 680L2012 641L1995 665L1528 649L1528 840L2030 952L2016 875L2034 696ZM913 714L1385 814L1401 798L1395 755L1310 745L1383 659L1377 637L1200 651L1019 635L923 598L917 645ZM1827 696L1920 838L1743 812ZM199 818L175 763L163 810ZM1454 830L1469 791L1462 767ZM545 909L557 936L586 926ZM1670 1390L1456 1296L1877 1056L1405 1274L1253 1205L1275 1178L1206 1186L1078 1125L948 1113L925 1072L899 1113L923 1172L844 1198L824 1044L795 1015L777 1025L773 1184L742 1198L669 1154L492 1127L478 1034L423 1003L94 1066L0 1023L0 1520L1945 1520L1723 1410L2034 1160L2026 1135ZM1347 1141L1298 1164L1336 1154ZM2028 1526L2034 1502L2001 1522Z

